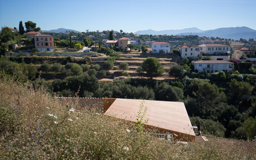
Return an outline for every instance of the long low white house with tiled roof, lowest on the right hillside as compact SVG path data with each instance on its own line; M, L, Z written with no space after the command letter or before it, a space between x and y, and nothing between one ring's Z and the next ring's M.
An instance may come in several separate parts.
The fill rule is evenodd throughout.
M198 70L198 72L227 72L234 69L234 63L228 61L193 61L194 70Z

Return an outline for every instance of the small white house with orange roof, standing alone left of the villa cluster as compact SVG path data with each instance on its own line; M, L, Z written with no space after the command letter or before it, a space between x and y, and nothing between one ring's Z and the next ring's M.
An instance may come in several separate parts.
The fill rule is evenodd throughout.
M170 53L171 44L167 42L152 43L152 53Z

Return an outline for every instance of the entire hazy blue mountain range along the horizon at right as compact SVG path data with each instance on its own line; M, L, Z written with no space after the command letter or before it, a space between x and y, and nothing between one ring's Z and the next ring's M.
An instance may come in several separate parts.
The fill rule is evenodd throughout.
M187 30L187 31L184 31ZM193 31L195 30L195 31ZM154 31L154 30L141 30L136 31L134 34L152 34L152 35L198 35L198 36L208 36L208 37L220 37L226 39L234 39L239 40L240 38L249 39L256 38L256 30L250 29L248 27L231 27L231 28L218 28L214 30L200 30L198 28L188 28L182 30L162 30L162 31Z

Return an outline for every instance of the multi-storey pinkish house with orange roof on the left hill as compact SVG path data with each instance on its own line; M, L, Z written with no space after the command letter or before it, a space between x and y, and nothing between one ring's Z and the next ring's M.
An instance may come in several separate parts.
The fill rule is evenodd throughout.
M42 51L54 51L54 41L52 35L47 34L36 34L35 38L35 48L39 52Z

